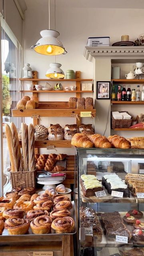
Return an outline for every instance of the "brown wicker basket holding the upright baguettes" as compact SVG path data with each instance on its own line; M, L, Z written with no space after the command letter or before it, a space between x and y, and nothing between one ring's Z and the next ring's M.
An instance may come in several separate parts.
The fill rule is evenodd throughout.
M12 188L16 186L20 186L22 189L32 187L36 187L36 173L37 170L32 172L10 172L10 182L12 184Z

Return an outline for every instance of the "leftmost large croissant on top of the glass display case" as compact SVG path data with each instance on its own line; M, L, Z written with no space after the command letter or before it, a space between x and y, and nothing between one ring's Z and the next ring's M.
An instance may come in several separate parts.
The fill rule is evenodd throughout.
M86 136L86 134L76 133L72 137L71 141L72 146L78 148L92 148L94 144L90 141L90 139Z

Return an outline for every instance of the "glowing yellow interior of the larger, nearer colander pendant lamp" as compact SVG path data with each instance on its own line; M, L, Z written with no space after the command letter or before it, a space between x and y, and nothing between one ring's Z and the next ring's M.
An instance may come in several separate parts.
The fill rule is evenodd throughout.
M49 44L36 46L34 50L44 55L59 55L64 52L64 48L57 45L49 45Z

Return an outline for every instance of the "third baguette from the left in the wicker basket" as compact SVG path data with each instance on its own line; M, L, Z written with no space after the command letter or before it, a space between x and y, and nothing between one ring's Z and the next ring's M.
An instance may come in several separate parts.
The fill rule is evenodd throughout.
M22 154L24 157L24 172L28 171L28 127L25 123L21 124L22 129Z

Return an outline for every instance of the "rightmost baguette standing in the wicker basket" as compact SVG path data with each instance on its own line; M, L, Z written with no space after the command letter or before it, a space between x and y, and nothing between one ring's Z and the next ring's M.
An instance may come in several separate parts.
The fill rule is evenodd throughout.
M28 126L28 168L29 171L34 171L35 158L34 158L34 126Z

